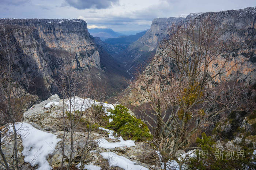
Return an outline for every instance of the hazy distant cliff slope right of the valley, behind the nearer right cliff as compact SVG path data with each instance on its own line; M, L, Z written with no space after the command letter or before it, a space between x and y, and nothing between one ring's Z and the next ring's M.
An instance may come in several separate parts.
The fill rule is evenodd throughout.
M159 42L166 38L172 24L181 24L185 18L156 18L145 35L133 42L117 57L124 61L129 72L134 73L141 65L147 65Z

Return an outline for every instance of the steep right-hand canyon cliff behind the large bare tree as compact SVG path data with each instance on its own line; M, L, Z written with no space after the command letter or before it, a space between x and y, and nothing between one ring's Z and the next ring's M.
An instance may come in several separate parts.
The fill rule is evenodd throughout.
M235 44L237 45L235 49L233 48L233 50L232 50L233 53L229 56L229 60L225 63L225 65L223 65L223 63L221 62L221 58L223 56L225 56L225 52L224 52L224 53L220 53L219 55L217 55L218 60L215 60L214 63L209 64L209 67L207 69L210 70L210 72L218 73L218 70L220 68L222 68L222 66L224 66L223 73L221 75L218 75L218 77L214 78L214 80L212 81L214 83L216 82L216 84L221 84L221 83L219 83L220 80L222 80L223 82L228 82L230 84L233 84L234 82L235 82L234 84L236 84L236 83L238 84L241 82L241 84L238 84L238 85L240 86L239 88L242 87L242 90L243 90L242 97L246 96L245 97L246 101L242 100L242 101L238 101L237 103L239 104L239 109L243 110L244 113L242 113L242 112L236 113L236 111L233 111L233 108L230 108L227 113L223 112L223 113L217 115L219 118L217 118L216 121L220 120L220 122L227 122L225 126L223 126L221 124L221 125L219 125L219 127L218 127L218 125L216 125L216 127L214 127L208 123L206 123L206 125L204 125L204 126L208 126L208 128L206 128L209 131L208 135L213 135L212 130L214 130L214 128L215 128L215 131L216 131L216 129L217 129L217 134L214 134L214 136L216 137L216 140L223 140L223 139L228 138L229 141L227 140L228 142L226 141L226 143L233 143L233 141L236 140L236 138L239 137L239 135L241 135L242 131L240 131L240 128L247 127L247 125L242 123L242 122L246 122L246 119L242 120L243 119L242 114L249 116L255 110L256 7L245 8L243 10L230 10L230 11L222 11L222 12L207 12L207 13L203 13L203 14L192 14L186 18L186 21L184 24L187 24L187 22L189 21L189 18L191 16L193 16L193 18L196 19L196 23L202 23L203 20L207 19L208 17L210 17L211 19L214 19L216 22L215 29L217 32L220 31L220 33L221 33L220 40L223 40L224 42L226 40L233 40L235 42ZM195 28L197 28L197 24L196 24ZM198 30L196 30L196 31L198 31ZM183 38L180 38L181 41L184 41ZM174 40L173 44L179 45L179 43L181 41L178 40L175 42L175 40ZM172 42L170 42L168 40L163 42L163 44L165 44L165 43L167 45L172 44ZM182 44L182 43L180 43L180 44ZM171 110L174 111L175 109L173 109L173 108L175 106L177 106L176 100L178 102L182 101L182 99L176 97L176 96L179 96L179 93L182 94L182 92L185 91L185 96L189 96L188 101L191 102L193 100L192 99L193 97L190 97L190 96L192 96L191 94L193 94L194 89L193 89L193 92L188 92L187 89L191 88L191 86L189 87L189 85L186 84L184 87L182 87L182 83L186 82L186 78L185 78L185 76L184 77L179 76L179 74L182 75L186 71L179 72L179 71L177 71L178 69L176 69L177 65L178 65L177 63L182 63L182 59L184 59L184 58L180 57L179 58L180 60L176 60L177 63L175 63L175 61L172 59L171 56L166 55L166 54L168 54L168 51L172 50L172 49L170 49L170 46L168 48L167 45L166 46L161 45L161 48L160 48L160 46L157 48L157 52L156 52L155 57L153 58L153 61L146 67L146 69L143 72L143 75L144 75L143 78L135 80L133 82L133 84L127 88L127 90L124 92L123 96L121 96L121 99L122 99L121 103L126 104L126 105L130 104L130 105L134 106L135 108L133 111L135 112L135 110L136 111L138 110L138 112L137 112L138 116L140 115L140 113L139 113L140 110L143 110L143 112L146 112L146 114L145 113L143 113L143 114L144 115L148 114L149 116L148 117L145 116L145 118L143 118L143 120L148 121L149 122L148 124L153 125L153 127L156 127L157 123L154 124L154 121L152 121L152 119L154 119L156 122L158 120L158 116L152 114L153 109L152 110L151 110L151 108L148 109L149 107L151 107L151 105L155 104L154 108L157 108L157 109L159 108L159 111L157 110L157 112L155 112L155 113L160 112L162 115L166 116L165 113L168 112L168 109L165 109L165 107L172 108ZM190 46L190 44L188 44L188 46ZM165 48L162 48L162 47L165 47ZM175 47L173 49L175 49ZM182 47L181 47L181 49L182 49ZM199 50L198 51L195 50L195 51L198 52ZM217 50L213 50L213 51L215 52L215 54L218 54ZM178 51L178 52L180 52L180 51ZM184 53L193 54L195 56L197 56L197 55L200 56L199 52L198 53L193 53L193 52L190 53L190 52L191 51L188 48L188 51L184 52ZM171 54L173 54L173 56L175 56L174 53L171 53ZM177 54L177 56L178 55L179 54ZM161 56L161 57L158 57L158 56ZM182 56L182 54L180 56ZM191 67L191 65L192 65L192 64L190 65L189 63L192 63L193 56L191 55L189 57L189 55L187 55L187 58L188 59L186 60L186 64L188 63L188 66L184 63L182 63L182 64L186 65L185 69L187 68L189 70L189 67ZM179 62L179 61L181 61L181 62ZM237 63L237 64L235 65L235 63ZM163 68L167 68L167 69L165 70ZM198 70L201 71L203 69L200 69L200 67L199 67L199 69L196 69L196 71L198 71ZM227 72L225 72L225 71L227 71ZM154 74L152 72L154 72ZM171 75L171 79L168 79L169 75ZM211 75L211 74L209 74L209 75ZM162 80L162 82L160 81L160 83L159 83L158 80L160 80L160 79ZM206 79L208 79L208 78L206 78ZM199 76L196 76L195 80L200 81ZM181 85L181 88L180 88L180 86L179 87L177 86L176 82L179 82L178 86ZM253 85L253 86L251 86L251 85ZM212 87L213 86L215 86L215 85L212 85ZM135 87L136 89L133 87ZM219 87L219 86L217 86L217 87ZM221 93L225 94L226 93L225 91L226 90L228 91L229 89L230 89L230 86L225 87L225 88L221 89L220 91L221 91ZM176 93L177 95L173 95L172 91L177 92ZM232 92L233 92L233 90L232 90ZM170 94L172 94L172 95L170 95ZM215 94L217 94L217 93L215 93ZM208 92L207 92L207 95L211 96L210 93L208 94ZM159 96L161 96L161 97L159 97ZM221 96L221 95L218 95L218 97L219 96ZM227 101L230 100L230 98L227 97L228 95L224 95L224 96L226 97ZM236 97L236 99L238 99L238 98L239 97ZM207 98L205 98L205 99L207 100ZM248 101L247 101L247 99L248 99ZM157 102L155 102L155 103L151 102L153 100L155 100ZM206 101L206 100L204 100L204 101ZM150 102L148 102L148 101L150 101ZM169 103L165 106L161 105L165 101L167 101ZM206 106L207 102L204 102L204 101L202 102L202 106L200 106L200 108L207 110L207 109L209 109L209 106ZM213 99L213 101L214 101L214 105L215 105L219 102L219 99L217 99L217 100ZM154 103L154 104L152 104L152 103ZM194 107L197 108L196 106L194 106ZM219 107L219 106L217 106L217 107ZM130 108L131 108L131 106L130 106ZM180 108L180 105L178 104L178 109L179 108ZM178 109L177 109L176 113L178 113L178 111L179 111ZM170 110L170 112L172 112L171 110ZM212 112L212 111L210 111L210 112ZM181 119L179 114L180 113L178 113L176 115L177 120ZM165 116L163 116L163 117L166 118ZM204 116L207 117L205 114L204 114ZM173 116L168 115L167 117L172 118ZM251 120L250 120L251 124L255 123L255 120L253 120L253 118L255 118L255 117L251 116ZM180 120L178 120L178 121L180 121ZM197 122L191 121L191 124L189 125L189 127L193 126L195 123L197 123ZM175 123L173 123L173 124L175 124ZM171 125L170 129L174 129L172 127L172 123L170 123L170 125ZM221 131L219 131L219 129L221 129L220 126L222 127ZM238 128L239 126L240 126L240 128ZM175 127L175 125L174 125L174 127ZM245 137L248 139L249 138L253 139L253 137L255 137L255 135L254 135L255 129L251 130L251 125L248 125L248 127L250 127L250 128L248 128L250 130L247 130L247 132L250 131L250 133L248 136L245 136ZM203 129L204 128L205 127L203 127ZM195 133L195 136L190 137L190 140L189 140L190 144L193 143L193 141L195 141L197 135L201 134L200 130L201 129L199 128L198 131ZM218 134L219 132L222 133L222 136L226 135L229 137L222 138L222 136ZM251 135L251 132L253 133L253 135ZM255 138L253 140L255 140ZM220 141L218 141L218 142L220 142ZM233 144L233 146L234 146L234 144ZM255 146L254 146L254 148L255 148Z

